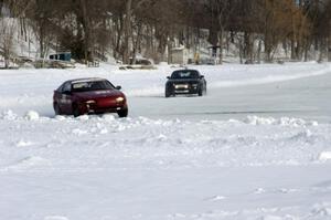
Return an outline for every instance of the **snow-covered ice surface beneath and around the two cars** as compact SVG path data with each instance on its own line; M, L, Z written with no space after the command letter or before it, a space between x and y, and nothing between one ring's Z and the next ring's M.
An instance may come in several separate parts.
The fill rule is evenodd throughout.
M331 66L197 69L207 96L175 98L166 65L1 71L0 219L331 219ZM128 118L54 115L88 76L122 86Z

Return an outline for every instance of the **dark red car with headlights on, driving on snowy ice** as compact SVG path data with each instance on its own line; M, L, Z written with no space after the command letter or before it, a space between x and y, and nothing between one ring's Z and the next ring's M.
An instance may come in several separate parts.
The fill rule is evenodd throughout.
M117 113L119 117L128 116L127 98L119 90L105 78L77 78L64 82L53 96L56 115Z

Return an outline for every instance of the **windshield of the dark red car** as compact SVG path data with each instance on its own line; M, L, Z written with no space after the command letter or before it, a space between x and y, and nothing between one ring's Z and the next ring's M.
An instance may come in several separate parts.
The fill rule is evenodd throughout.
M77 82L72 84L72 92L74 93L103 90L114 90L114 86L108 81Z

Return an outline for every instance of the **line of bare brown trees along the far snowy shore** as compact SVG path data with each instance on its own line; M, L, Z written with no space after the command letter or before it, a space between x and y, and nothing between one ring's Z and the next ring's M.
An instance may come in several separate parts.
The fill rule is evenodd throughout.
M50 49L79 61L124 63L143 54L170 61L178 45L199 52L201 39L235 45L241 61L273 62L279 48L293 61L328 60L331 0L0 0L2 56L12 48L12 24L22 40L32 30L40 57Z

